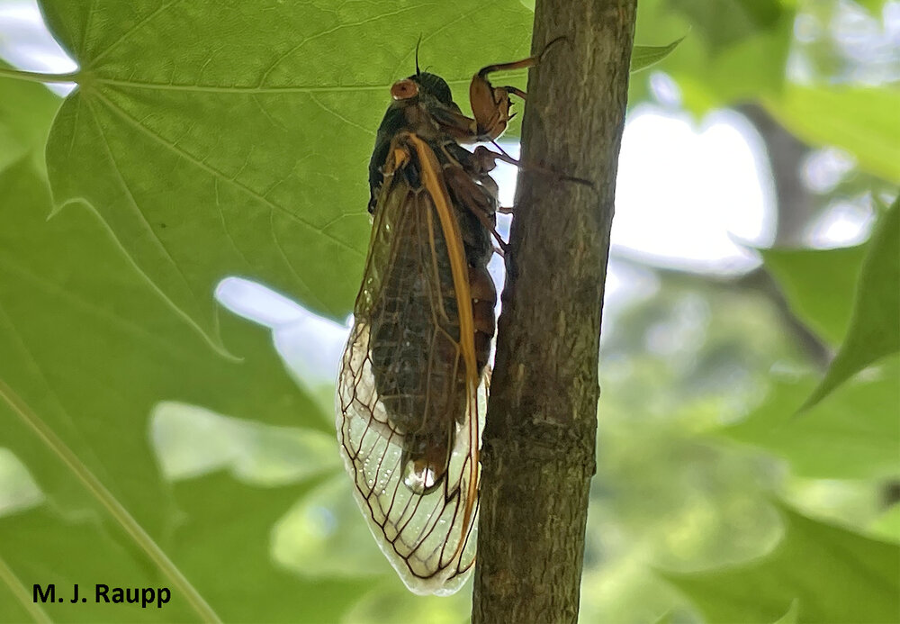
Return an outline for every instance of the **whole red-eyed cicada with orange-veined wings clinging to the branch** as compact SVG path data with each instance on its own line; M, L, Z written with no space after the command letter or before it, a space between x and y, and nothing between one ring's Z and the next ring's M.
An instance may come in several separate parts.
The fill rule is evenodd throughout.
M419 70L391 87L369 163L373 216L338 374L337 429L356 501L411 591L449 594L473 565L479 445L497 293L487 265L499 207L493 141L512 86L482 68L473 116Z

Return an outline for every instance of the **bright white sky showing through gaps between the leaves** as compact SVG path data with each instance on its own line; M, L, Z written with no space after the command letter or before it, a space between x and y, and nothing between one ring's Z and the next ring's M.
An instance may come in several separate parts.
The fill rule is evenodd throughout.
M33 0L0 5L0 57L32 71L76 69L47 32ZM656 266L734 274L759 264L752 250L741 243L766 246L773 235L768 162L750 123L731 112L712 113L693 122L686 113L672 110L677 86L671 80L662 74L647 77L660 99L670 105L638 106L627 120L617 180L607 327L627 302L650 296L656 289L652 272L617 262L617 256ZM508 147L514 154L518 151L518 146ZM515 175L509 166L497 172L505 205L512 203ZM829 217L833 222L826 219L821 226L820 235L852 239L859 233L859 215L839 214L836 221L833 216ZM837 230L830 231L833 227ZM495 261L492 268L500 282L502 263ZM272 328L276 347L302 379L314 383L323 371L330 377L337 369L345 327L247 280L226 278L217 296L234 312Z

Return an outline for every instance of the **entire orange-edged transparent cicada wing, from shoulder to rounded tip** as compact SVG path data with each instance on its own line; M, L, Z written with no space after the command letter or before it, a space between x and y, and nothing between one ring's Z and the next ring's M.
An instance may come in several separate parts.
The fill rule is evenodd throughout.
M412 152L407 166L421 170L433 160ZM461 344L473 340L459 319L471 307L466 312L458 301L447 268L462 245L438 214L435 192L413 188L401 170L386 176L338 375L337 429L379 547L411 591L449 594L474 561L485 397ZM425 347L417 349L417 340ZM446 474L432 475L434 487L410 487L410 439L433 425L452 431Z

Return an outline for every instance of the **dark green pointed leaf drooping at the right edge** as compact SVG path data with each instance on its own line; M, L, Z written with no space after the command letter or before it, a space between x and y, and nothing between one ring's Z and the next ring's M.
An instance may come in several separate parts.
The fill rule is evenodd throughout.
M879 358L900 350L900 197L879 219L868 247L850 329L804 409Z

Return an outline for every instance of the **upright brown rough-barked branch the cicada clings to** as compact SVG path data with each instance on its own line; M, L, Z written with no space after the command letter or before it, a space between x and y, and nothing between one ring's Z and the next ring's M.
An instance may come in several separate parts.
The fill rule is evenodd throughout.
M574 622L595 470L600 311L636 0L537 0L482 442L473 622Z

